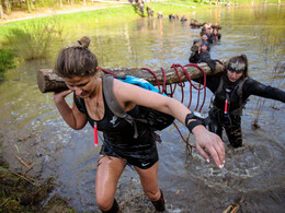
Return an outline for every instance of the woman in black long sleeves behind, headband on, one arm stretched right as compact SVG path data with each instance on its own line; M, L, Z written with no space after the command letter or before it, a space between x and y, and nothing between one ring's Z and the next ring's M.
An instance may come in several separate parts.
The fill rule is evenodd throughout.
M197 80L195 80L197 81ZM203 78L201 78L203 82ZM233 147L242 145L241 114L250 95L256 95L285 103L285 92L264 85L248 76L246 55L236 56L226 62L223 74L207 75L206 86L213 92L209 110L209 130L221 137L226 130Z

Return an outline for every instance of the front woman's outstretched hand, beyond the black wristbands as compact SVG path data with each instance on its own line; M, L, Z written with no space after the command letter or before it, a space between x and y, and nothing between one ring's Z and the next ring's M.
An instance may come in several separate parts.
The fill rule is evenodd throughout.
M202 125L195 127L192 132L195 137L196 149L200 154L209 162L209 156L205 152L205 150L207 150L216 165L223 168L225 164L225 149L221 139Z

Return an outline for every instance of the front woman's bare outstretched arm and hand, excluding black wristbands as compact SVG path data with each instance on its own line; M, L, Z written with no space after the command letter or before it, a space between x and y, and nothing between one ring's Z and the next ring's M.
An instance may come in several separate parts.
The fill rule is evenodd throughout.
M118 80L114 80L114 95L125 110L132 109L135 105L141 105L169 114L183 125L189 125L185 123L185 118L187 114L191 114L191 110L174 98ZM189 122L194 120L192 119ZM203 125L194 127L192 133L195 137L200 154L209 162L209 156L206 153L207 150L216 165L223 167L225 163L225 149L221 139L217 134L209 132Z

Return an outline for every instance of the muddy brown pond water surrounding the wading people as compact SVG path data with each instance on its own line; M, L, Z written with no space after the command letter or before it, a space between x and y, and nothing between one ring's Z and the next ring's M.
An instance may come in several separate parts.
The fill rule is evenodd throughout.
M213 59L246 54L251 76L285 90L284 10L276 5L223 8L190 12L186 16L223 25L221 43L210 51ZM189 23L169 22L167 17L139 19L102 28L79 24L66 43L89 35L93 40L91 49L102 67L159 69L172 63L186 64L190 46L198 33ZM94 179L99 147L93 146L92 129L87 126L80 131L71 130L59 117L52 94L41 94L35 83L36 70L53 68L54 59L55 55L48 61L20 63L0 84L1 153L12 169L27 170L18 156L33 165L27 175L54 176L58 187L53 193L66 197L77 212L96 212ZM276 69L282 66L283 69ZM186 86L185 94L187 90ZM193 95L196 99L197 93ZM207 111L210 96L207 91L203 111ZM181 98L181 91L176 91L175 97ZM68 102L71 104L71 97ZM195 106L193 102L191 109ZM168 212L223 212L241 199L242 212L282 212L284 109L283 103L250 97L242 117L244 146L232 150L225 141L227 158L223 170L213 162L206 164L196 150L190 156L173 127L162 131L163 143L158 144L159 184ZM254 119L260 128L252 130ZM182 126L180 129L187 137L186 129ZM194 139L190 140L193 143ZM137 174L128 167L118 182L116 199L123 212L155 212Z

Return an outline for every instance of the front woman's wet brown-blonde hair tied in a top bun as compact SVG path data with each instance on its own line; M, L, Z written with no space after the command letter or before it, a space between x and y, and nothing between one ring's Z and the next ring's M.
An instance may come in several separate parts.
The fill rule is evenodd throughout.
M83 36L80 40L62 48L55 64L56 74L61 78L94 75L98 60L88 49L90 42L88 36Z

